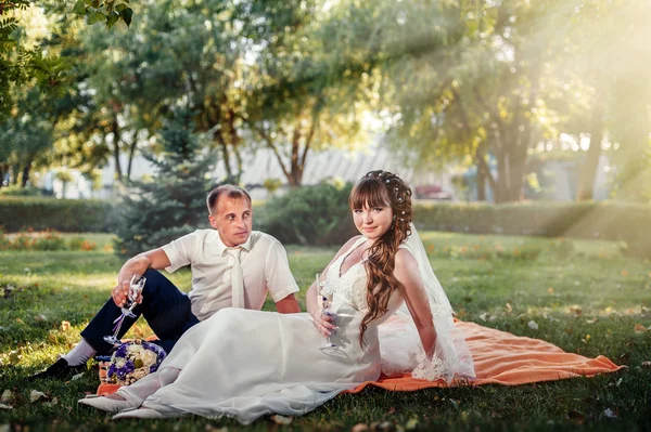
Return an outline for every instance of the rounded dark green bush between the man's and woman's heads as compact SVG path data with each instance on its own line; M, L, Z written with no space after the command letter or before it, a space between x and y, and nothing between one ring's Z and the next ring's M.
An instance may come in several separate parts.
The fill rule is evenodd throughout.
M283 244L341 246L357 234L348 209L352 188L327 182L271 198L256 211L256 228Z

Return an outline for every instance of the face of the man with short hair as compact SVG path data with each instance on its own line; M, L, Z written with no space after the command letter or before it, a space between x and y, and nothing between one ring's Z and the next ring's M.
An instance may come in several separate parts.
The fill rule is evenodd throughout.
M210 226L219 232L221 241L229 248L246 243L253 224L248 199L221 197L215 207L208 220Z

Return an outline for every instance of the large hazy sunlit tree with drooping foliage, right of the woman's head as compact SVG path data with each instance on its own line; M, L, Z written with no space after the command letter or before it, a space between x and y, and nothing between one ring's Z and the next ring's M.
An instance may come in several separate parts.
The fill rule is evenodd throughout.
M374 21L357 30L368 40L358 55L385 77L397 146L421 163L467 160L497 202L521 199L528 152L558 133L549 105L562 86L552 74L565 36L558 23L572 18L576 5L370 4L366 14Z

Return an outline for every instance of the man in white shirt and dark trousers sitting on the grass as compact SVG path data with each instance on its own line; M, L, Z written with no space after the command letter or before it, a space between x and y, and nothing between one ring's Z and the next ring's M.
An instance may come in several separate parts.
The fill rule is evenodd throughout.
M251 196L238 186L213 189L206 199L208 221L214 230L197 230L168 245L129 259L120 269L118 284L100 312L81 331L81 341L44 371L30 378L69 377L86 369L95 354L108 354L113 345L104 341L113 335L114 320L128 298L132 275L144 275L146 283L133 310L126 317L117 338L122 338L141 314L158 337L157 343L169 352L181 335L224 307L260 310L267 292L280 313L301 312L294 292L286 252L276 238L251 230ZM192 272L192 289L181 292L157 272L175 272L184 265Z

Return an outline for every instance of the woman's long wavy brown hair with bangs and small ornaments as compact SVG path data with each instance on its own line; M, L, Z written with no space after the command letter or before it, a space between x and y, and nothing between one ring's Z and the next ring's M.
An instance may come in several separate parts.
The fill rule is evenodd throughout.
M370 171L362 176L348 197L350 210L365 207L391 207L393 223L382 237L369 249L365 264L367 271L367 303L369 311L359 326L359 342L368 324L388 310L388 300L403 286L394 276L395 257L403 241L411 234L411 188L396 174L387 171Z

